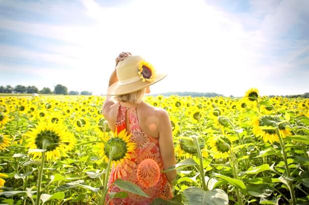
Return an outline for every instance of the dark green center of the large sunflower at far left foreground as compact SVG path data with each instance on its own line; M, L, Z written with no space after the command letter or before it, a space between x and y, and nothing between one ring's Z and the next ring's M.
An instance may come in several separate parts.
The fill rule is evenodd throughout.
M50 130L41 131L36 135L35 145L39 149L43 149L43 141L47 141L47 151L52 151L59 146L60 137L54 132Z

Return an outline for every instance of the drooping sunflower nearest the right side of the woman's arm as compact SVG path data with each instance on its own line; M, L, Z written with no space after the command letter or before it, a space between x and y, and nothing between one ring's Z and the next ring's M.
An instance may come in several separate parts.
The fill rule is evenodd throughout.
M193 135L194 133L187 131L183 134L183 136L189 137L191 135ZM202 152L203 157L208 157L208 152L205 150L205 140L203 137L198 137L198 145L199 148L202 150L204 149L204 151ZM179 157L183 157L183 158L190 158L193 155L197 154L197 149L196 146L194 144L193 140L190 139L180 139L179 143L176 145L175 147L175 152L178 153Z

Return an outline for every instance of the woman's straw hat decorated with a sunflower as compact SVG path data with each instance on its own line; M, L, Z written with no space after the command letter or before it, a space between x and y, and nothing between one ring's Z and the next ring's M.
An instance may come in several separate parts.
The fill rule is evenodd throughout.
M108 95L123 95L141 90L163 79L166 73L157 73L141 56L127 56L116 67L118 81L107 89Z

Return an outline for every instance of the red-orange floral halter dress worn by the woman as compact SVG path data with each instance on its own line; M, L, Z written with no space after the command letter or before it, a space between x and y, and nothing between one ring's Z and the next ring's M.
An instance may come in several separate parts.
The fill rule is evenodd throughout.
M126 129L126 111L128 110L130 120L130 133L132 134L130 141L136 143L136 149L130 153L131 159L126 159L122 165L113 166L108 184L112 184L116 179L130 181L138 185L150 198L142 197L132 193L128 193L129 197L124 199L113 199L109 205L148 205L156 198L171 199L172 191L169 182L163 170L163 163L160 156L158 138L152 137L144 133L139 125L136 107L123 107L119 106L116 128L117 132ZM138 180L137 170L139 164L145 159L153 159L160 169L158 180L152 186L143 184L145 181ZM155 180L155 179L154 179ZM108 190L110 192L120 192L121 190L116 186L111 186ZM107 201L109 197L107 196Z

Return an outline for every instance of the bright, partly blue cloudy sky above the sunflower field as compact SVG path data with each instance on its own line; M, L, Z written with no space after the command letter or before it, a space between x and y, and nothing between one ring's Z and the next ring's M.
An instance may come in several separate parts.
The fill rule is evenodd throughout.
M0 0L0 85L105 94L121 52L167 72L154 94L303 94L309 0Z

